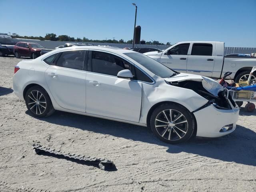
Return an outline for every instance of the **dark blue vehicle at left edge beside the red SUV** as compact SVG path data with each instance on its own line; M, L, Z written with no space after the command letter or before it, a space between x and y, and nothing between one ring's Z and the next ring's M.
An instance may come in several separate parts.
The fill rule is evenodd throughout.
M16 40L16 39L15 39ZM0 33L0 56L13 55L13 48L17 41L6 33Z

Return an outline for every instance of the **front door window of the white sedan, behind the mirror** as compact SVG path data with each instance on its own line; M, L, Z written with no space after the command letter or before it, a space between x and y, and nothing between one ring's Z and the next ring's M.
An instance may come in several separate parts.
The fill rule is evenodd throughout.
M105 52L92 51L92 72L117 76L124 69L130 70L130 64L125 60Z

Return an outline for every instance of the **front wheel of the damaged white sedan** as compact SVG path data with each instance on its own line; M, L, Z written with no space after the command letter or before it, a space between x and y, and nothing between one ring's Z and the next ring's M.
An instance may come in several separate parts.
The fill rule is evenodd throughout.
M172 119L170 118L170 111ZM171 103L162 104L153 111L150 118L150 126L155 136L163 142L178 144L190 139L194 132L196 121L184 106Z

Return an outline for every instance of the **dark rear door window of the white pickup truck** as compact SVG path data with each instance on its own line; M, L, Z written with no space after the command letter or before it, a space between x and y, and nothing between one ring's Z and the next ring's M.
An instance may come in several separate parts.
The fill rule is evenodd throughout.
M191 55L212 56L212 44L210 43L194 43Z

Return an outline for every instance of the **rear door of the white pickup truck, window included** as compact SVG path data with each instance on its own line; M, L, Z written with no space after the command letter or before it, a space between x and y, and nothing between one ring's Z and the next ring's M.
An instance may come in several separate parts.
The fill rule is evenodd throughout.
M188 56L187 72L212 77L215 62L215 43L193 43Z

